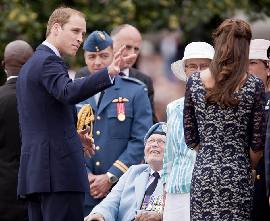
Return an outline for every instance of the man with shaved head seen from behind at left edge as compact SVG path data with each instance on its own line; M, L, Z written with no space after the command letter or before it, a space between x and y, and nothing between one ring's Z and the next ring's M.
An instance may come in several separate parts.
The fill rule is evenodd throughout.
M25 62L34 53L25 41L10 42L2 66L7 81L0 87L0 220L28 220L27 204L17 200L21 138L16 99L16 82ZM12 151L11 151L12 150Z

